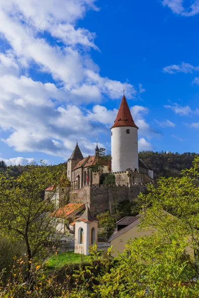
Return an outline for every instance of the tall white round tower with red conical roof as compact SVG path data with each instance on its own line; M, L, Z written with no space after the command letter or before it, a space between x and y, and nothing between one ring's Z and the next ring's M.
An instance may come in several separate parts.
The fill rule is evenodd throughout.
M138 171L138 127L123 95L117 117L111 127L111 171L130 168Z

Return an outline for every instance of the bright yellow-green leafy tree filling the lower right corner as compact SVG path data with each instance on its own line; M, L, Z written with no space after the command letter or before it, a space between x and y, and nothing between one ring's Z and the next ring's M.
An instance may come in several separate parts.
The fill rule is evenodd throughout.
M140 194L141 229L110 272L100 276L100 297L199 297L199 157L181 177L160 178ZM195 256L193 256L195 251Z

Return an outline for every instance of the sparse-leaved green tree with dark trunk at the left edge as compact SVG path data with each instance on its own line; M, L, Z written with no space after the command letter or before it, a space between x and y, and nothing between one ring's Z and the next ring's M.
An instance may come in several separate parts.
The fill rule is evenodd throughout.
M23 241L29 271L32 259L41 255L44 245L56 235L57 219L50 215L56 187L47 200L42 194L47 186L59 184L61 174L58 168L53 175L44 163L27 166L18 177L0 174L0 229Z

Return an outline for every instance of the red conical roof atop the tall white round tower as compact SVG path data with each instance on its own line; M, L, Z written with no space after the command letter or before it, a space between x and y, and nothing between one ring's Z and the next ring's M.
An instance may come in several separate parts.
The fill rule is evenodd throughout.
M111 128L118 126L132 126L138 129L138 127L135 125L135 122L133 121L133 117L129 110L125 96L122 97L117 117Z

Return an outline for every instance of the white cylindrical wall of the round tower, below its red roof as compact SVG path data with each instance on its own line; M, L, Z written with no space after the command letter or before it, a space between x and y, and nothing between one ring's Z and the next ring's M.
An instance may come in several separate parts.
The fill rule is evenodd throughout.
M126 134L126 130L130 134ZM135 127L113 127L111 129L111 170L126 171L131 168L138 170L138 138Z

